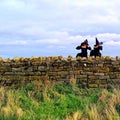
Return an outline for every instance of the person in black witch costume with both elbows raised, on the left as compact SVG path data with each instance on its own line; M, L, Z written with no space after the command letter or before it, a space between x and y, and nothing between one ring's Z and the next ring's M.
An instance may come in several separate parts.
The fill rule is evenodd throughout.
M89 46L88 40L86 39L84 42L81 43L80 46L77 46L76 49L77 50L81 49L81 53L78 53L76 55L76 57L78 57L78 56L80 56L80 57L87 57L88 56L87 50L91 50L91 47Z

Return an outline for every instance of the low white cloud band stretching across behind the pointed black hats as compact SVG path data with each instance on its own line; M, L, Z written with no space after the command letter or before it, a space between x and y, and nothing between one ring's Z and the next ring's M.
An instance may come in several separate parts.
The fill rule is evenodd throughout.
M48 31L47 31L48 32ZM64 32L52 31L46 33L47 37L44 39L36 39L36 40L1 40L0 45L41 45L46 44L51 45L71 45L71 44L80 44L85 39L88 39L89 43L95 43L95 37L98 38L99 41L104 42L104 44L109 45L119 45L120 43L120 34L96 34L96 35L87 35L87 36L71 36Z

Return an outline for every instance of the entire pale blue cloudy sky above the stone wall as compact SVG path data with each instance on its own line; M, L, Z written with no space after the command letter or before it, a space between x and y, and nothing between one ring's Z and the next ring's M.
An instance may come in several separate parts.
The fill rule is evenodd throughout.
M0 56L76 56L85 39L120 56L120 0L0 0Z

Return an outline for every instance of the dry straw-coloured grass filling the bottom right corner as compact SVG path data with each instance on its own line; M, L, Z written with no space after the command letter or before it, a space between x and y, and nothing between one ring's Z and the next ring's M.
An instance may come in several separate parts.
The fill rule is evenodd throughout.
M101 110L99 102L105 102ZM108 90L103 89L98 104L90 104L85 108L85 113L77 111L66 120L120 120L120 115L116 110L117 105L120 105L120 90L114 89L110 94Z

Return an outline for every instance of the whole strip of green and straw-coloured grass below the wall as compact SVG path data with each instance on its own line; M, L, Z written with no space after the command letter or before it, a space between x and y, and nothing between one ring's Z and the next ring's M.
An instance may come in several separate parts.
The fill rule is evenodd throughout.
M120 90L38 83L1 87L0 120L120 120Z

